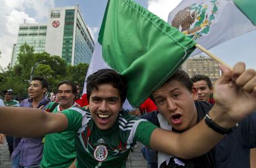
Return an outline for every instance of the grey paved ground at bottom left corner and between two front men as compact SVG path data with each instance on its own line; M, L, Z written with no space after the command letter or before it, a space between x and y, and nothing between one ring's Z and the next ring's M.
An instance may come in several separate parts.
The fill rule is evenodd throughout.
M147 168L147 162L140 152L142 146L141 143L137 144L137 148L134 148L133 152L130 152L129 157L126 161L127 168ZM11 159L9 158L8 146L5 143L0 145L0 168L10 168Z

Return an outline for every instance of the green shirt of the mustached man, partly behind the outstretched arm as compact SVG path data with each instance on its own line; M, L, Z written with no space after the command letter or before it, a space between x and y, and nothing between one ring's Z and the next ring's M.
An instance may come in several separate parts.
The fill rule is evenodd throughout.
M49 111L53 104L54 102L50 103L48 107L46 107L46 111ZM77 104L74 104L72 107L75 106L77 106ZM54 113L60 111L59 105L53 110ZM66 168L74 162L75 157L75 136L73 131L50 133L45 136L43 158L40 162L41 168Z

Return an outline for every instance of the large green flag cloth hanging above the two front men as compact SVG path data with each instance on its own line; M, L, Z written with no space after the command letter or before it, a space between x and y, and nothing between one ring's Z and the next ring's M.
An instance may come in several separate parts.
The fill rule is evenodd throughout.
M127 78L137 107L194 51L195 41L132 0L110 0L99 33L103 59Z

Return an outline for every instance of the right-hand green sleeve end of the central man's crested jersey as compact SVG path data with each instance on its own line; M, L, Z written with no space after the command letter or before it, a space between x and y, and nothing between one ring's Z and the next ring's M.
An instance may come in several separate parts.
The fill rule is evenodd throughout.
M158 127L147 120L140 122L135 131L135 140L140 141L144 145L150 147L150 137L155 128Z

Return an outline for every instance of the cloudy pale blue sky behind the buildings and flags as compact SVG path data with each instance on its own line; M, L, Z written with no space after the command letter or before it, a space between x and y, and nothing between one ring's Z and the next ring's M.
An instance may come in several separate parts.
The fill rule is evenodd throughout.
M161 19L167 20L168 13L180 0L136 0L142 6L158 15ZM97 38L101 20L106 7L106 0L2 0L0 6L0 65L6 67L11 61L12 44L17 41L19 23L24 19L28 23L44 23L48 18L50 7L75 6L79 4L83 19ZM233 40L210 49L216 56L223 59L229 65L237 61L243 61L247 67L256 69L256 31L246 33Z

